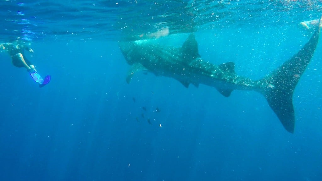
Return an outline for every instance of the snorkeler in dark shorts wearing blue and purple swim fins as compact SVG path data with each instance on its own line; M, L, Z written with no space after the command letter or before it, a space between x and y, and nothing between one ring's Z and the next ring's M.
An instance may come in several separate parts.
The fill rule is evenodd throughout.
M33 49L29 48L24 44L19 43L2 43L0 44L0 50L5 50L9 53L9 55L12 58L12 64L15 67L26 68L33 80L39 83L39 87L43 87L49 83L51 79L50 75L47 75L45 79L43 79L38 74L37 70L35 69L35 66L23 56L24 50L33 53Z

